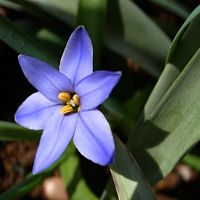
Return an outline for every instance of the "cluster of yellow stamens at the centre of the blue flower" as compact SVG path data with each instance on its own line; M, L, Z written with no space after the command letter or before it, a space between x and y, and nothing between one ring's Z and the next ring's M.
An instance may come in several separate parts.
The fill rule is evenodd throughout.
M78 94L70 94L67 92L60 92L58 99L64 103L60 109L61 114L76 113L80 110L80 99Z

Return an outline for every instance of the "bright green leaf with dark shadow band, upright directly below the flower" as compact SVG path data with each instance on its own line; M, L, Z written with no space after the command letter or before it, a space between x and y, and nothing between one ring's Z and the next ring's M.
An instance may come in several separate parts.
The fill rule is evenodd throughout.
M60 165L60 172L71 200L79 200L83 197L84 199L97 200L82 176L79 158L76 154L71 154Z

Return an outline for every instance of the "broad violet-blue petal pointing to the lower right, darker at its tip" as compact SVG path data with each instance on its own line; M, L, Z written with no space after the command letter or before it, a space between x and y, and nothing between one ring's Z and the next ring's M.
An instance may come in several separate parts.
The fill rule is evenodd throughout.
M94 163L104 166L113 161L113 136L107 120L98 110L79 113L74 144L83 156Z

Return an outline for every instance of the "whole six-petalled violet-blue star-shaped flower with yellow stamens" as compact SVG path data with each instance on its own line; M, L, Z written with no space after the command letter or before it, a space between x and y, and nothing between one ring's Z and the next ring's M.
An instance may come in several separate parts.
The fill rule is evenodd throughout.
M38 92L18 108L15 121L29 129L44 129L34 174L55 162L71 139L87 159L102 166L112 163L113 136L97 106L108 98L121 73L93 72L92 59L91 40L82 26L70 36L59 71L36 58L19 55L24 75Z

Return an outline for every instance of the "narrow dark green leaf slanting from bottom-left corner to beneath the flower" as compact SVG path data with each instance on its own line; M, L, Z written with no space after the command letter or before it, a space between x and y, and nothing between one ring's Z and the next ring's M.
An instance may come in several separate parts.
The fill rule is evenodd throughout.
M2 193L0 195L0 200L5 200L5 199L6 200L16 200L16 199L23 197L24 195L29 193L33 188L37 187L38 184L40 184L44 180L45 177L51 175L53 173L53 171L64 160L66 160L71 153L74 153L74 149L73 149L73 146L70 145L70 146L68 146L67 151L63 153L61 158L58 161L56 161L51 167L47 168L46 170L44 170L43 172L41 172L37 175L29 174L25 178L25 180L23 180L21 183L14 185L9 190Z

